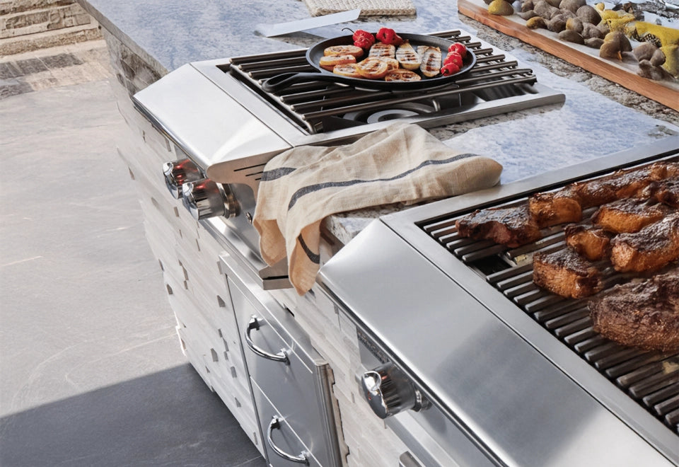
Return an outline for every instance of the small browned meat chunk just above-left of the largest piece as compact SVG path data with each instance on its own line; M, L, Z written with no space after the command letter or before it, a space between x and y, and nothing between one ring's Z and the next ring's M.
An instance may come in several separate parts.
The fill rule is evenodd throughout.
M603 287L600 272L578 253L563 248L554 253L535 253L533 282L557 295L579 299Z

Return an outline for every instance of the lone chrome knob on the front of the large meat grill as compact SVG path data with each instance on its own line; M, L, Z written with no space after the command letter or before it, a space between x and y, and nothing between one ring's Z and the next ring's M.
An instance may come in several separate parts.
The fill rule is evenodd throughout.
M393 364L366 371L361 378L361 387L370 408L380 418L408 409L418 412L430 405L429 400Z

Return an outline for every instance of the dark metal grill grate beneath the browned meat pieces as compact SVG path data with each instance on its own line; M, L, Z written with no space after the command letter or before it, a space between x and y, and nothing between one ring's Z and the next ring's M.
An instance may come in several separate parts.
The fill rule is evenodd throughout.
M527 198L504 204L524 204ZM581 224L596 208L583 213ZM461 238L455 229L458 215L422 226L441 246L513 301L558 340L579 354L615 386L642 405L664 425L679 434L679 353L647 352L623 347L603 338L592 328L587 299L565 299L533 284L533 254L565 248L560 226L543 229L543 238L519 248L490 241ZM625 282L606 262L598 263L605 288Z

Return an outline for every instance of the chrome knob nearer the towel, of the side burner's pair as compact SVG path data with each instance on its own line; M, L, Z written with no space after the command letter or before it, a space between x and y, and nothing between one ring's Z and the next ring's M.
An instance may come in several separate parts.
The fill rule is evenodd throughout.
M224 216L226 218L238 214L236 200L233 199L228 185L220 185L209 178L182 185L182 202L196 219Z

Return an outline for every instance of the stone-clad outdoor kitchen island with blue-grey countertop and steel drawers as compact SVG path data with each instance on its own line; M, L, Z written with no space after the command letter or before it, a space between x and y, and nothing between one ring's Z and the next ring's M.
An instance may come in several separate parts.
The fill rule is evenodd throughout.
M374 415L358 382L364 371L372 369L364 367L364 353L372 344L362 332L361 323L356 323L356 316L345 313L321 284L298 296L289 288L285 265L267 267L263 263L257 239L253 237L254 197L248 186L224 183L221 193L231 199L226 203L231 212L227 209L197 221L182 205L186 196L182 199L185 192L181 183L173 185L173 180L168 183L163 170L172 169L181 176L204 174L190 164L163 164L195 157L192 153L200 152L201 144L197 147L190 138L182 139L183 134L173 138L176 129L159 125L153 121L154 115L142 115L141 111L149 108L144 108L143 102L141 105L137 102L135 108L131 96L166 75L170 79L193 76L193 68L211 68L208 75L219 69L221 74L228 68L224 64L230 57L308 47L322 38L344 35L343 27L376 30L388 26L402 33L417 34L439 31L458 34L461 30L460 37L470 35L469 40L478 40L482 49L494 46L506 52L507 60L516 57L521 67L533 70L539 84L555 91L551 95L564 96L553 103L478 115L429 129L455 149L501 163L502 184L617 151L663 141L676 144L677 140L672 138L679 135L679 114L479 23L463 21L454 1L414 0L417 16L364 18L311 31L318 35L296 33L279 38L264 38L255 33L255 26L306 18L309 13L303 2L80 0L80 3L105 29L117 77L112 86L120 113L131 129L129 139L120 142L118 152L137 188L146 237L163 269L164 287L178 322L180 345L207 386L224 400L269 463L274 466L299 462L349 466L512 463L512 453L503 457L492 452L493 443L479 444L468 426L455 427L442 419L431 425L437 436L453 442L454 447L443 449L440 444L427 441L431 433L410 420L408 412L386 422ZM185 66L194 62L200 64L193 68ZM178 73L170 73L173 71ZM221 76L216 81L219 79ZM182 81L175 83L181 85ZM205 83L200 81L200 88ZM180 113L187 125L195 121L194 126L199 127L207 120L203 115L205 109L218 110L209 119L216 121L214 125L224 132L212 135L216 146L224 149L230 139L229 130L238 122L234 121L233 108L220 107L221 94L214 94L213 89L202 96L199 88L182 86L167 89L168 100L181 101ZM257 105L248 109L255 112ZM248 146L251 142L240 143ZM202 183L195 178L190 180L194 186ZM192 209L196 214L203 207ZM405 209L392 204L328 217L322 226L320 263L326 263L373 219ZM199 214L203 217L202 212ZM382 279L389 280L387 276L375 277L365 287L378 290ZM417 290L412 293L417 294ZM412 339L423 347L427 343L426 335L413 335ZM372 350L378 356L381 354L380 349ZM375 358L378 362L379 357ZM489 407L491 410L501 413L504 409ZM616 429L613 427L613 432ZM540 431L539 423L535 430ZM624 439L627 449L634 451L642 446L637 455L644 454L645 449L652 450L650 444L639 442L634 435L625 434ZM547 448L559 451L558 442L552 444L555 445ZM563 451L572 454L569 449ZM540 459L541 452L544 451L536 446L535 465L549 464L552 459ZM625 449L621 452L634 459L634 452L630 454ZM672 455L666 451L663 454ZM557 456L553 461L568 459Z

